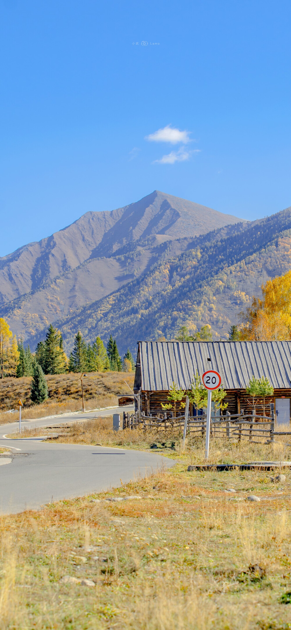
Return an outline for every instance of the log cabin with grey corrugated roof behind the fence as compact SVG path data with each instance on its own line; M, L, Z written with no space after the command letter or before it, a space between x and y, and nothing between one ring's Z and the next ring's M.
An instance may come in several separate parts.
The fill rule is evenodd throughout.
M139 341L134 392L140 393L140 411L163 413L173 381L191 389L196 370L202 377L209 369L222 377L231 414L251 412L246 387L253 376L265 376L274 388L266 403L275 404L278 423L290 421L291 341Z

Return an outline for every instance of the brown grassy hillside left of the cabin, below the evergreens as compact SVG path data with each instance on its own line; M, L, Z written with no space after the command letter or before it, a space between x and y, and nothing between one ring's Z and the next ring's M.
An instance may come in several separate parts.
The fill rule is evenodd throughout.
M24 404L23 419L43 418L68 411L81 411L82 394L80 374L48 375L48 400L43 404L33 405L30 401L31 377L21 379L0 379L0 424L15 422L18 411L4 413L16 409L18 399ZM130 387L134 385L134 373L125 372L90 372L84 379L85 408L103 408L118 404L118 396L130 395L125 381Z

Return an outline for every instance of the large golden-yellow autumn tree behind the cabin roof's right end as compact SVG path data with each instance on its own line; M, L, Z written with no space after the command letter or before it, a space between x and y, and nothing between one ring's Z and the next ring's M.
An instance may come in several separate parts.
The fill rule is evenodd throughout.
M241 339L284 341L291 339L291 270L268 280L261 287L263 299L253 302L242 313Z

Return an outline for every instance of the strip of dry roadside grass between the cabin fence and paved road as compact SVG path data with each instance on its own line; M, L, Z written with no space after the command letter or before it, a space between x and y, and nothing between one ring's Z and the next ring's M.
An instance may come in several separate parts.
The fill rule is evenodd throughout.
M280 430L288 431L290 427L280 425ZM113 416L92 418L90 420L62 423L50 428L24 428L21 435L18 432L10 433L11 438L47 436L49 440L62 444L92 444L101 446L115 446L124 449L159 451L167 457L181 457L190 464L203 464L205 454L205 438L197 437L193 433L187 435L185 448L182 449L183 430L181 428L168 428L166 431L147 429L139 425L137 429L129 428L122 431L113 431ZM8 436L7 436L8 437ZM226 438L212 437L208 462L230 464L231 462L248 461L280 461L291 460L291 446L289 436L280 435L280 440L273 444L261 444L249 442L243 438L227 440Z

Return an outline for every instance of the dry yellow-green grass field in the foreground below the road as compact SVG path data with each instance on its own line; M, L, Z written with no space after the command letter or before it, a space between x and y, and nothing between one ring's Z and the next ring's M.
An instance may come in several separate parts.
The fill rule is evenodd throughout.
M267 473L188 463L98 495L137 500L94 495L2 517L1 630L289 629L289 471L281 489Z

